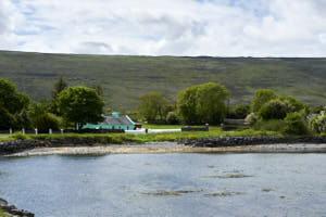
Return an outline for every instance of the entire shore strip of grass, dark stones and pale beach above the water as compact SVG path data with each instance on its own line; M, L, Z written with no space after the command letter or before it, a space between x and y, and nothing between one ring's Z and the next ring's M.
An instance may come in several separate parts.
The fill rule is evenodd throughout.
M155 128L158 125L145 125ZM178 128L180 126L161 126ZM48 154L110 153L325 153L326 137L286 137L277 131L242 129L162 133L64 133L22 135L0 138L0 155L34 156Z

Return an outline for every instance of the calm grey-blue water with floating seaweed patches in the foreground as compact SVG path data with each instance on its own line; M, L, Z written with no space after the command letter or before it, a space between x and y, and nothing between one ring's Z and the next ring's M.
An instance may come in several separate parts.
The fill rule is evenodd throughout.
M2 158L0 197L38 217L319 217L326 216L326 155Z

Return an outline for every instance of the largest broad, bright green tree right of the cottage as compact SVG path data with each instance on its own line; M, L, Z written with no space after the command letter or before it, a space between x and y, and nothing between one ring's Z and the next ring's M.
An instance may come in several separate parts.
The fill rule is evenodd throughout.
M221 123L226 115L228 97L228 90L215 82L186 88L177 95L177 113L187 124Z

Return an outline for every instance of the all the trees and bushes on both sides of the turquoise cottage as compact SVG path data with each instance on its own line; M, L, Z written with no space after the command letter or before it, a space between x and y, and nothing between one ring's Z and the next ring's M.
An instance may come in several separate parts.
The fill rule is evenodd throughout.
M34 129L47 132L49 128L74 128L103 119L103 89L98 86L68 87L60 78L51 99L36 102L7 79L0 78L0 130ZM220 125L224 118L246 118L254 129L300 135L326 132L326 107L309 104L290 95L278 95L269 89L255 91L250 103L229 106L230 92L216 82L185 88L175 98L160 92L140 97L136 107L137 119L159 124ZM312 115L309 119L309 114Z

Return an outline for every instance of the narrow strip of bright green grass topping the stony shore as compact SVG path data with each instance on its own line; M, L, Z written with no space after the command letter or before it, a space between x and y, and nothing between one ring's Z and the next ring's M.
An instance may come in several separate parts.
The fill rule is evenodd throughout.
M279 132L274 131L258 131L246 129L241 131L222 131L215 127L210 131L187 131L187 132L162 132L148 135L128 135L128 133L65 133L65 135L13 135L7 140L24 139L24 140L60 140L60 139L89 139L97 140L99 143L145 143L145 142L164 142L178 141L180 139L202 139L216 137L281 137ZM5 139L3 139L5 140Z

